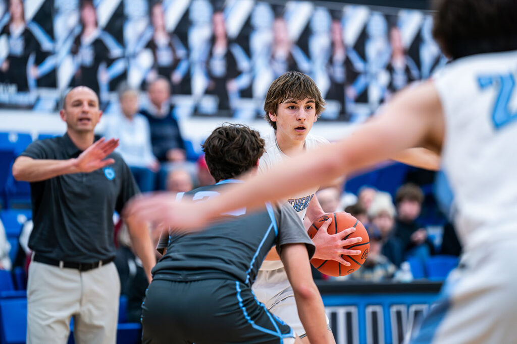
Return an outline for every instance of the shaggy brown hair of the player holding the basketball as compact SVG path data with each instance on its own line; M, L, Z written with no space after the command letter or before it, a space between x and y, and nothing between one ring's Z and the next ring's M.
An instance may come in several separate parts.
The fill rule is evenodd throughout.
M325 110L325 101L314 80L300 72L285 72L273 81L267 90L264 103L266 121L277 130L277 123L271 121L269 113L276 114L280 103L289 100L300 101L306 98L314 100L316 116L320 117Z

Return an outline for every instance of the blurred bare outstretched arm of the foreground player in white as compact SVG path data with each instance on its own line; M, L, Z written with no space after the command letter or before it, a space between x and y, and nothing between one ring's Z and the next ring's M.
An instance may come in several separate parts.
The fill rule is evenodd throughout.
M382 114L363 124L354 135L286 159L247 183L229 187L215 200L195 205L175 203L172 195L162 194L133 202L127 212L166 225L199 227L218 214L286 198L389 159L407 148L433 146L439 151L443 137L442 105L432 81L427 81L397 94Z

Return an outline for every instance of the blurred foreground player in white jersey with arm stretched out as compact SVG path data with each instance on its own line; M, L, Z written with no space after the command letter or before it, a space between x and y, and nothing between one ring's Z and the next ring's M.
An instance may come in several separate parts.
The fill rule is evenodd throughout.
M196 226L210 214L281 198L413 146L440 152L454 190L464 254L413 343L509 343L517 327L517 2L441 0L433 35L453 61L432 80L399 92L354 135L282 163L232 188L218 202L169 202L165 223ZM337 158L338 157L338 158ZM308 177L310 176L310 177ZM161 211L157 209L156 211ZM203 211L207 218L188 222Z

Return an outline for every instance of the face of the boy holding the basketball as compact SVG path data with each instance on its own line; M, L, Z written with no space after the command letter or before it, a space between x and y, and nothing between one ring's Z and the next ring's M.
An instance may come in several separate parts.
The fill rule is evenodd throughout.
M286 100L278 105L277 113L269 113L277 123L277 136L291 141L304 141L316 122L316 104L313 99Z

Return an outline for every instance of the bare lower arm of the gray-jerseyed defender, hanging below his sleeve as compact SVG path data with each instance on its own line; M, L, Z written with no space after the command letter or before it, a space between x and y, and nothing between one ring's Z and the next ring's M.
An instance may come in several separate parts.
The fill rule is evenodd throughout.
M293 287L298 315L311 344L333 343L327 329L325 309L320 291L312 279L309 255L305 244L286 244L282 247L282 263Z

